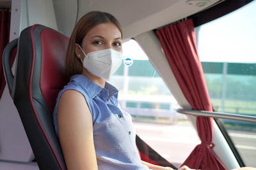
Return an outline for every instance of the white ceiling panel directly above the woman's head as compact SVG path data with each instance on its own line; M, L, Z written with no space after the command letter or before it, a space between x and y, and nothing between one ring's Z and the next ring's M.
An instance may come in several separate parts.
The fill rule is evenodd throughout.
M124 39L170 24L202 11L219 0L79 0L78 18L89 11L114 15L124 29Z

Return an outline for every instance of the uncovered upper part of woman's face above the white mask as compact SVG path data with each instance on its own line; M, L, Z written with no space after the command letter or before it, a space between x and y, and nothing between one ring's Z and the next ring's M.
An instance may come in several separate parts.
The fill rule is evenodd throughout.
M84 36L81 47L86 54L108 48L122 52L121 32L115 24L98 24Z

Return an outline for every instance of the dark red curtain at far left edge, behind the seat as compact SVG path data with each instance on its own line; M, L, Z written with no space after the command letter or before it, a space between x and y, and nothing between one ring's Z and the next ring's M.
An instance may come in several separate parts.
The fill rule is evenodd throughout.
M5 79L3 72L3 51L9 43L11 13L9 10L0 10L0 99L3 94ZM12 62L14 57L12 57Z

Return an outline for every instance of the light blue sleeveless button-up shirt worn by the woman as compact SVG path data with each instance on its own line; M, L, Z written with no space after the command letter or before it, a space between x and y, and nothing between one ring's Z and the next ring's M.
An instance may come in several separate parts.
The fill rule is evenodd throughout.
M83 74L70 78L70 82L58 94L52 115L57 136L57 107L65 90L80 92L88 103L92 113L93 142L99 169L148 169L141 164L131 115L118 107L118 90L107 82L105 88L102 88Z

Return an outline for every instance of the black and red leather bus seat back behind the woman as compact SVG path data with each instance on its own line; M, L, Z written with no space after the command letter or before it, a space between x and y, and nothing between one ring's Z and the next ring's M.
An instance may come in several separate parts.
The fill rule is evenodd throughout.
M16 43L15 43L16 42ZM15 74L10 50L18 46ZM11 46L11 47L10 47ZM52 125L58 92L67 83L68 38L43 25L24 29L3 55L4 75L40 169L67 169Z

